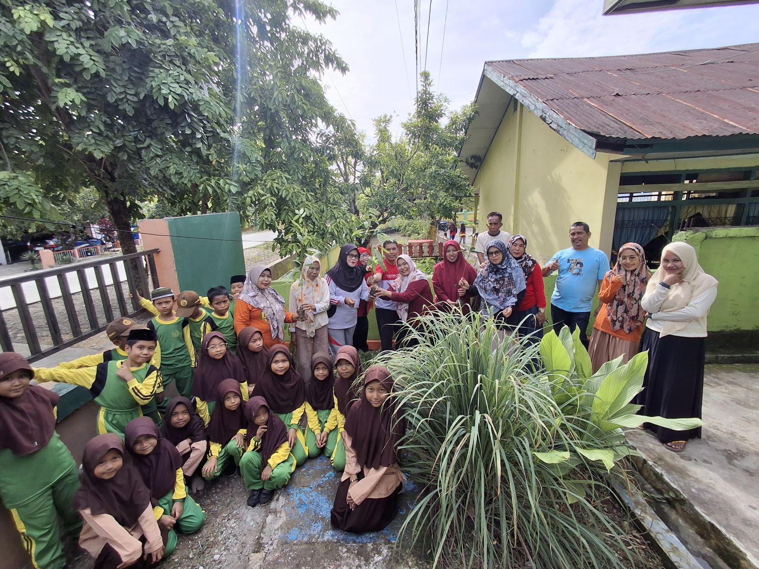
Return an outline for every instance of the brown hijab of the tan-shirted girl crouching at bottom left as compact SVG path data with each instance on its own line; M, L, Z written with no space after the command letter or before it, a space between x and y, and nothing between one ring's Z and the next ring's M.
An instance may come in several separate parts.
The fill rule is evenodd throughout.
M112 479L95 476L95 467L108 451L117 451L124 464ZM84 445L82 457L82 485L74 495L74 508L90 508L93 515L109 514L123 527L130 528L150 506L150 492L142 476L131 464L131 457L124 452L121 437L112 432L97 435Z

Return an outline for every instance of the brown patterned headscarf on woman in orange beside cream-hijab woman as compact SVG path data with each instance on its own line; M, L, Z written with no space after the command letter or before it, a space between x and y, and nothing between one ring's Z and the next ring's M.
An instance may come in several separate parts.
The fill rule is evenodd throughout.
M622 251L629 249L635 251L641 264L635 271L625 271L619 262ZM626 275L625 275L626 273ZM646 284L651 277L651 272L646 266L646 254L643 247L637 243L625 243L619 248L617 262L612 270L606 273L606 278L616 275L625 284L619 288L614 299L606 307L606 318L612 325L613 330L624 330L627 334L643 325L645 319L644 310L641 309L641 298L646 291Z

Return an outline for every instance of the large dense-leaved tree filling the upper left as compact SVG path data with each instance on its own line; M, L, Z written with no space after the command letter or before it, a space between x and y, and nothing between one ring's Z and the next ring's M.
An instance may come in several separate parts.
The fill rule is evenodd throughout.
M336 11L316 0L0 0L0 193L20 192L17 211L34 216L93 186L122 232L159 201L178 215L238 210L281 230L285 252L335 240L351 224L335 218L344 197L323 143L353 126L319 76L347 66L292 14Z

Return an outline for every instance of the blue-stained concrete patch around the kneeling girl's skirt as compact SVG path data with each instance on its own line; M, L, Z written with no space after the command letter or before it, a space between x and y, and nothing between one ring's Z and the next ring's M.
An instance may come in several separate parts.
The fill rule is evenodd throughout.
M395 542L405 514L410 511L411 501L417 494L416 485L408 481L401 495L398 516L385 530L356 535L335 530L329 523L329 513L340 476L342 473L334 470L326 457L311 459L293 473L290 483L282 490L286 521L280 528L279 539L289 542L328 540L357 544Z

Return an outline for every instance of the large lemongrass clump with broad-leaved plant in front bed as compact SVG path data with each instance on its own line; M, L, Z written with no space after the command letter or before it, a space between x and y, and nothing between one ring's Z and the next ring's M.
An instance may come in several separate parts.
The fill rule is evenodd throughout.
M422 488L404 539L446 566L635 566L625 532L600 508L610 478L624 476L619 461L636 454L622 429L700 423L636 414L629 401L647 354L592 374L566 328L540 346L507 339L493 349L493 321L479 314L423 322L426 336L409 329L417 347L378 358L408 421L403 470Z

